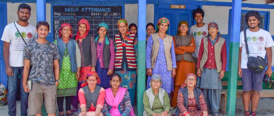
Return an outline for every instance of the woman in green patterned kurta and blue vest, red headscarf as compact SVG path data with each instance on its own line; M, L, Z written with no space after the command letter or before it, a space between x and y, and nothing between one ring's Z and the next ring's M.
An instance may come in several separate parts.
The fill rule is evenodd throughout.
M66 115L76 116L71 113L72 96L77 95L77 82L80 76L81 54L78 44L72 37L72 28L68 23L63 23L59 30L60 38L54 40L58 47L61 59L59 60L60 78L57 87L57 104L59 115L64 116L64 97L66 99Z

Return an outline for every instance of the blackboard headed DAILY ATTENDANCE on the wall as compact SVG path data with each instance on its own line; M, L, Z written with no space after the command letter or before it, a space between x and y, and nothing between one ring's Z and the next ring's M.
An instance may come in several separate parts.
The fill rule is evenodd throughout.
M122 18L122 6L53 6L54 40L59 38L62 23L72 26L73 36L77 34L78 22L85 18L90 24L88 35L97 37L97 27L101 22L108 25L108 36L114 38L119 33L117 22Z

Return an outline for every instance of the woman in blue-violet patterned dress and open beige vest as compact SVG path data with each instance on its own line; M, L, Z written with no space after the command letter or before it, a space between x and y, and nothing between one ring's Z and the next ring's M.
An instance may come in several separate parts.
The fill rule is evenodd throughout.
M170 92L173 91L173 77L176 75L176 59L172 36L166 32L169 27L167 18L160 18L156 33L151 34L146 44L146 74L148 75L147 85L151 76L159 74L162 77L162 88ZM147 89L150 87L147 86Z

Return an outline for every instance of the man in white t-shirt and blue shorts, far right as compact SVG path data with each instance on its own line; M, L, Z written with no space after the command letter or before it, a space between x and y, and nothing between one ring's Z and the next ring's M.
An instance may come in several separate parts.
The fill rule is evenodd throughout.
M246 54L246 45L244 42L244 31L240 34L239 64L238 74L243 84L243 104L244 116L256 116L260 93L262 91L262 80L265 74L272 75L272 49L274 45L271 35L268 31L259 28L260 14L258 11L250 11L245 15L245 21L248 24L246 38L248 44L249 56L267 58L268 68L266 71L256 73L247 68L248 56ZM252 92L251 92L252 91ZM251 112L249 113L249 102L251 98Z

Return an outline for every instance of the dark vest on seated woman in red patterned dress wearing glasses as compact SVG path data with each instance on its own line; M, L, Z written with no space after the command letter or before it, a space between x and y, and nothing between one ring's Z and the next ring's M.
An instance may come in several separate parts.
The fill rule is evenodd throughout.
M184 107L188 109L188 87L180 88L179 91L183 94L183 97L184 97ZM198 110L201 110L200 104L199 104L199 99L201 94L202 94L202 91L198 89L197 87L194 87L194 98L195 98ZM179 110L179 108L177 108L175 116L178 116L180 112L181 111Z

